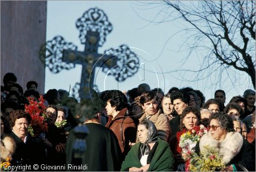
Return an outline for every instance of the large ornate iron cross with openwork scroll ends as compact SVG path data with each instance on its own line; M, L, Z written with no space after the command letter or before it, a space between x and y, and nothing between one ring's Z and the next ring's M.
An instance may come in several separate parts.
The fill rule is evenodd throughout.
M76 64L82 65L80 84L73 88L74 97L90 98L89 90L93 89L95 68L100 67L104 73L114 75L117 81L124 81L133 76L139 68L139 58L128 46L121 45L116 49L106 50L104 54L98 53L106 35L112 30L112 24L106 14L98 9L91 8L78 18L76 27L79 29L80 42L85 45L84 51L77 51L77 46L66 42L61 36L47 41L40 49L40 59L45 62L53 73L62 69L72 69Z

